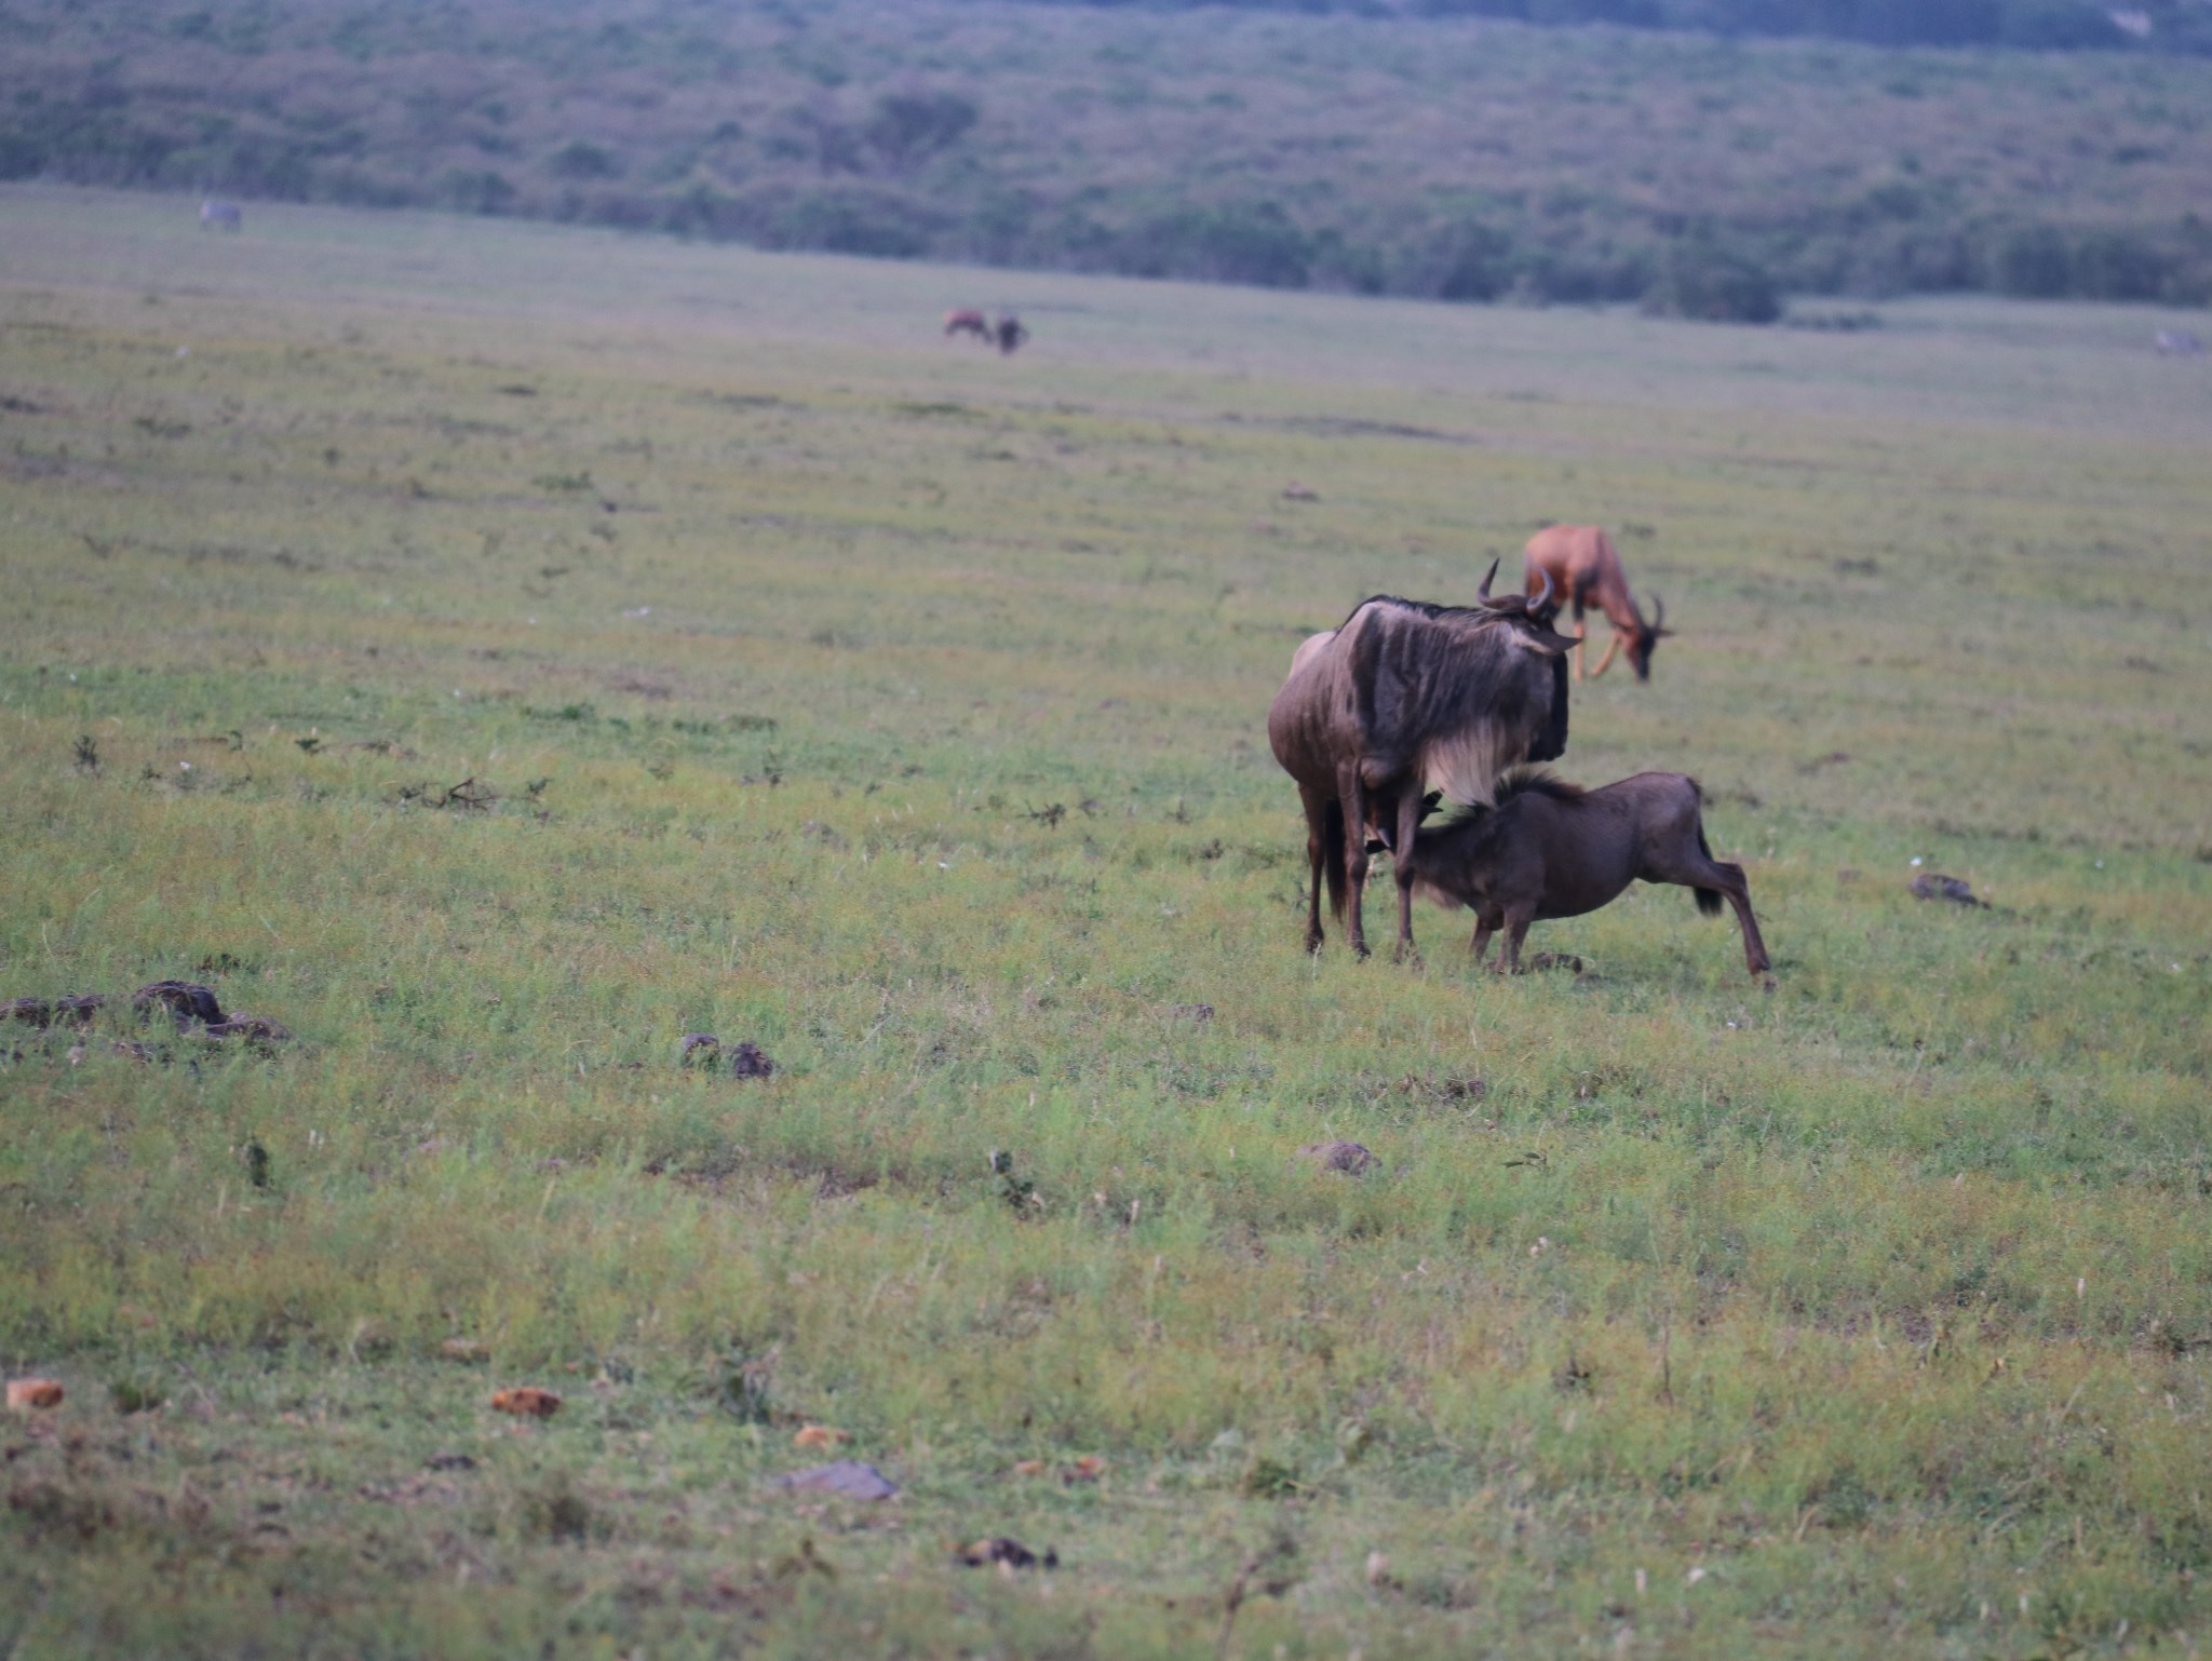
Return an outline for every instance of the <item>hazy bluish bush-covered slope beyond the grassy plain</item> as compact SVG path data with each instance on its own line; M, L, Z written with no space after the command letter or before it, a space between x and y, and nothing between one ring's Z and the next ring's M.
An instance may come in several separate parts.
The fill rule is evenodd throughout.
M1787 294L2212 299L2212 60L1442 15L1475 4L1876 15L0 0L0 179L217 190L248 234L257 199L416 206L1752 323Z

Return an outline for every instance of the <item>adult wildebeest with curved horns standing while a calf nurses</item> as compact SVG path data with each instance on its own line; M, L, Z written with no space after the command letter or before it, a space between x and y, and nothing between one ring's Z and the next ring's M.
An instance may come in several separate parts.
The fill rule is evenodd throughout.
M1345 916L1352 949L1367 955L1360 900L1367 827L1389 847L1411 847L1433 785L1455 803L1491 798L1506 767L1566 750L1566 657L1551 593L1475 606L1425 606L1376 595L1340 628L1298 646L1290 679L1267 710L1267 743L1298 783L1312 896L1305 949L1321 947L1321 889ZM1398 869L1398 951L1413 947L1413 894Z

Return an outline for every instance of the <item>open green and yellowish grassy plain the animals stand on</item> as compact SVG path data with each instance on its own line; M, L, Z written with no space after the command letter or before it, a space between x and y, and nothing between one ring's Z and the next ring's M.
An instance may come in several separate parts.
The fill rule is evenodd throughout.
M69 1389L0 1420L11 1657L2205 1634L2212 376L2154 314L0 228L0 993L296 1033L9 1028L0 1369ZM1672 889L1540 924L1582 978L1298 951L1292 646L1555 518L1681 628L1562 772L1703 779L1772 993ZM902 1495L779 1491L803 1424Z

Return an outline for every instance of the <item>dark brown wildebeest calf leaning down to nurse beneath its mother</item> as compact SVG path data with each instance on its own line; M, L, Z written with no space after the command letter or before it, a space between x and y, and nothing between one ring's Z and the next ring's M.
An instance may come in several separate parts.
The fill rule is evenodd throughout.
M1767 973L1767 947L1752 916L1741 865L1705 845L1701 792L1679 772L1639 772L1604 790L1582 790L1542 772L1509 774L1495 807L1478 807L1413 838L1413 887L1475 913L1475 958L1493 931L1500 973L1520 971L1520 942L1537 918L1579 918L1619 898L1637 878L1697 889L1697 909L1721 911L1725 896L1743 924L1743 962Z

